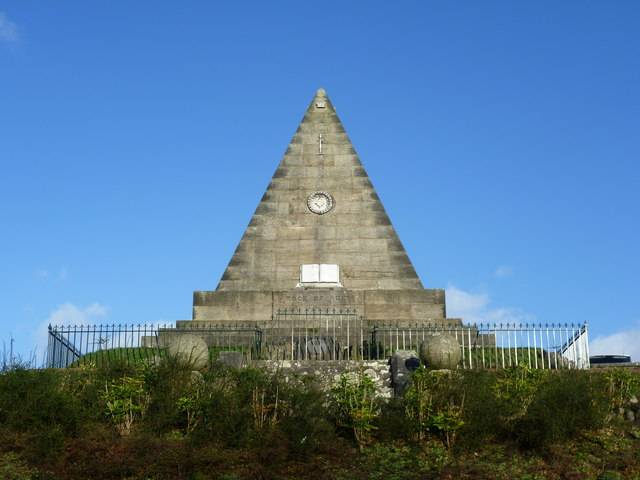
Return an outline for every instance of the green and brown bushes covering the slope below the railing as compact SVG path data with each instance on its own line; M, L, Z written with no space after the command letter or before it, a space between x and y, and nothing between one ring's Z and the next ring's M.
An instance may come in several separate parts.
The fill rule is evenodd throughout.
M2 479L640 478L629 370L430 372L384 402L164 358L0 373ZM626 417L626 418L625 418Z

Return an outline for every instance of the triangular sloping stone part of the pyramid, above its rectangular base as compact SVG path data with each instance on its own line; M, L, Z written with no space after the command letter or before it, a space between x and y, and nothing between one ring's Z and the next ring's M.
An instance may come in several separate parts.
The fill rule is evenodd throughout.
M315 198L320 203L314 213ZM329 210L318 211L318 205ZM323 89L307 108L217 291L289 290L303 264L338 265L349 290L423 288Z

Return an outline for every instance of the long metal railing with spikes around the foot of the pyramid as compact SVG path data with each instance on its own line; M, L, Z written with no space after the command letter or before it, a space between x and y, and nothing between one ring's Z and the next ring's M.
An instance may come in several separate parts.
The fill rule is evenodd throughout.
M167 354L173 338L202 338L211 361L223 351L255 360L384 360L397 350L420 352L434 335L459 348L459 368L589 368L586 324L474 324L370 322L350 309L282 309L262 328L249 324L181 323L49 326L46 366L141 363ZM372 322L373 323L373 322Z

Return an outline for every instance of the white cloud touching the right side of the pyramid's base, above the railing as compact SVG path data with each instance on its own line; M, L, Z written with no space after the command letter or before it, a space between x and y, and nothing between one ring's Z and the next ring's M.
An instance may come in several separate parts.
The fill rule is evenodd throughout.
M535 316L518 308L491 304L488 293L472 293L454 285L446 289L447 316L462 318L464 323L528 323Z

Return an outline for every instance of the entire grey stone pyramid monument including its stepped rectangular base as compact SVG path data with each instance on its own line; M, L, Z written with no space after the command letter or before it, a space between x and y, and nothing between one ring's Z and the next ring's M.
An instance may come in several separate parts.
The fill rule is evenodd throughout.
M316 267L319 281L305 280L301 272L313 277ZM323 280L323 268L336 278ZM193 319L176 325L257 325L273 331L285 325L288 331L293 324L286 312L292 311L351 311L370 326L459 322L446 318L444 290L422 287L322 89L217 289L195 291Z

